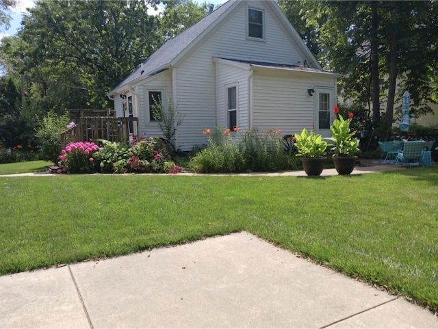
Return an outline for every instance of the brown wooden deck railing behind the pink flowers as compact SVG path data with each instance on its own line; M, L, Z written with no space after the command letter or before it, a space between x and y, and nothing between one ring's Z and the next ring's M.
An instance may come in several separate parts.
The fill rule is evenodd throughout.
M71 129L61 133L61 146L68 142L109 140L124 143L132 139L132 131L138 131L138 118L114 118L108 116L81 117Z

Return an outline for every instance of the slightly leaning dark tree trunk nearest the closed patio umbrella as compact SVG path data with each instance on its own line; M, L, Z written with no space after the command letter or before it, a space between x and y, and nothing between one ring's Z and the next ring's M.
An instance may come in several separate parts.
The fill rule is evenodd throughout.
M394 100L396 98L396 82L398 75L398 19L400 16L402 2L394 1L394 12L391 28L391 49L389 55L389 88L388 102L385 114L385 131L387 137L391 135L391 127L394 116Z

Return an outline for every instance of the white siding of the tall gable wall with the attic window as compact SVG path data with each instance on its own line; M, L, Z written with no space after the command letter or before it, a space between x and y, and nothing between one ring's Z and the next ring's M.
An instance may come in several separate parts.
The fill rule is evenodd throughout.
M257 5L263 8L259 1L250 1L251 7ZM205 128L224 125L224 118L220 117L220 111L224 107L216 104L216 90L220 90L220 86L216 86L213 57L283 64L302 62L302 58L285 36L283 29L277 25L268 8L264 11L265 41L248 40L246 10L246 3L242 2L214 34L205 36L201 45L187 54L183 62L177 66L174 81L177 85L177 103L179 112L184 115L183 124L178 129L177 146L182 150L190 150L196 144L205 144L206 138L202 134ZM236 77L241 75L235 74ZM241 80L242 76L238 79ZM240 105L247 111L248 104L245 102L248 100L248 81L239 83L239 88ZM240 113L239 120L240 126L248 125L248 116L245 116L244 112Z

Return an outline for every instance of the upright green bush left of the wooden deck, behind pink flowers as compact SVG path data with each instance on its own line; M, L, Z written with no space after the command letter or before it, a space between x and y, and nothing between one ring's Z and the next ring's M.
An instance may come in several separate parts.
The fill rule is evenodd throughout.
M58 116L54 111L49 111L42 119L41 127L36 132L40 140L41 157L43 160L57 163L61 153L61 133L67 129L68 116Z

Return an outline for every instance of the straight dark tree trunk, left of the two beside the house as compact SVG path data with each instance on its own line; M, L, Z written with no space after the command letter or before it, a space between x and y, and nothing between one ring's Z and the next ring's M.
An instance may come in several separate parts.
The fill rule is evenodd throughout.
M378 14L377 1L371 1L371 79L372 79L372 123L378 127L381 119L381 88L378 79Z

